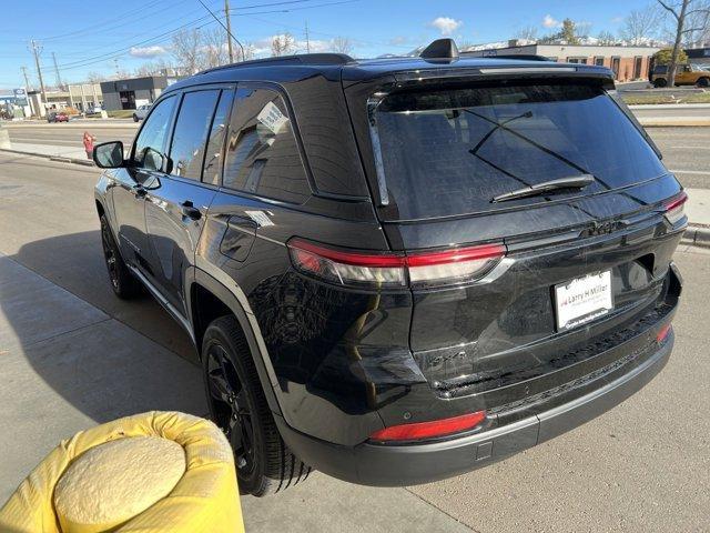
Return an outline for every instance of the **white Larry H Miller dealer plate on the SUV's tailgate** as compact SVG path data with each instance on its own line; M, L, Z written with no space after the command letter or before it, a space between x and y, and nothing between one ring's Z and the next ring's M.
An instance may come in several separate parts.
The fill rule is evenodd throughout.
M613 309L611 271L576 278L555 285L557 329L569 330L586 324Z

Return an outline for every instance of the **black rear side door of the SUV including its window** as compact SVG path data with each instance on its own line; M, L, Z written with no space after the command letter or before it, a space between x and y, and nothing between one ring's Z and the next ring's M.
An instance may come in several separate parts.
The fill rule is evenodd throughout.
M145 195L145 227L153 281L174 311L187 316L185 270L194 263L216 192L233 88L187 90L176 98L181 101L168 159Z

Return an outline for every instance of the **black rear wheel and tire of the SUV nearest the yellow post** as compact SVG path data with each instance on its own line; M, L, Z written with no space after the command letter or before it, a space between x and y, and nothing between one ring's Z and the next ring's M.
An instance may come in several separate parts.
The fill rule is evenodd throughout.
M210 415L234 451L240 492L265 496L305 481L312 469L282 440L234 316L207 326L201 353Z

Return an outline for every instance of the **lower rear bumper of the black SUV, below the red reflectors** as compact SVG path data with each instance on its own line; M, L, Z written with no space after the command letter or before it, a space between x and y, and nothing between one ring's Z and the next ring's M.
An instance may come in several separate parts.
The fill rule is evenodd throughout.
M483 433L442 442L343 446L300 433L276 416L281 434L306 463L345 481L398 486L450 477L545 442L608 411L639 391L670 358L673 333L628 373L568 403Z

